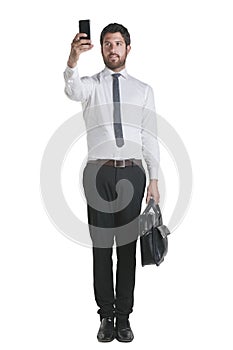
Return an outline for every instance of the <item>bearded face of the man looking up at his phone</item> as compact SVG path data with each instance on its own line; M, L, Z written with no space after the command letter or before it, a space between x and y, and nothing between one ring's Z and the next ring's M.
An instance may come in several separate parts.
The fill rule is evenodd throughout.
M130 45L126 47L121 33L106 33L101 51L105 65L114 72L119 72L125 68L125 61L130 51Z

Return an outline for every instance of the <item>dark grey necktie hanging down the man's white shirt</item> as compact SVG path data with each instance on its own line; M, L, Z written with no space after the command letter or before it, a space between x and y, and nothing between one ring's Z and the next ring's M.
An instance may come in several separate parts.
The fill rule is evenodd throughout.
M116 144L118 147L124 145L122 124L121 124L121 105L120 105L120 90L119 90L119 76L120 73L112 74L113 77L113 123Z

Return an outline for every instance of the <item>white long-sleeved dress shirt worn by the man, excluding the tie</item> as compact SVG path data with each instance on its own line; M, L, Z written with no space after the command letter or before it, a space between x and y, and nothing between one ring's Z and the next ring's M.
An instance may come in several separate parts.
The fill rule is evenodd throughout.
M142 159L150 179L158 179L159 146L152 88L119 72L124 145L118 147L113 126L113 71L105 67L92 77L79 77L77 66L64 72L65 93L82 102L87 129L88 159Z

